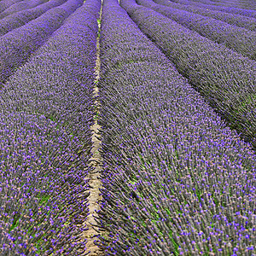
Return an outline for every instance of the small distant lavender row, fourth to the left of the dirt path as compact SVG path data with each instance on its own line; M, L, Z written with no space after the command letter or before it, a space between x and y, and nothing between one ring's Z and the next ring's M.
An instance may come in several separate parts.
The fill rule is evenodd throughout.
M12 6L10 6L8 9L5 9L3 13L0 14L0 19L3 19L4 17L8 15L12 15L16 12L21 11L22 9L32 9L39 4L45 3L48 0L28 0L28 1L22 1L20 3L15 3Z

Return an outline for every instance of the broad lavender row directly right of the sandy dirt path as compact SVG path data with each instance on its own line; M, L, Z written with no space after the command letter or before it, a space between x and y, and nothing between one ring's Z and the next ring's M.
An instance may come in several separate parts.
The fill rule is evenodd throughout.
M122 17L120 19L120 17ZM99 80L107 255L250 255L255 156L117 0L104 0Z

